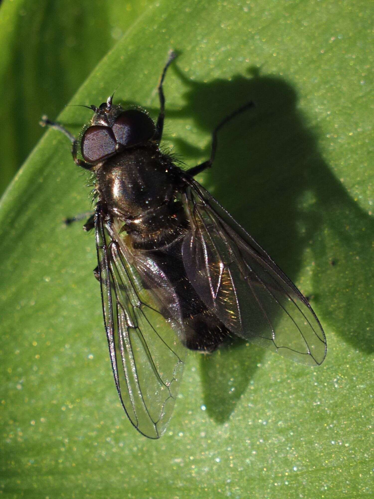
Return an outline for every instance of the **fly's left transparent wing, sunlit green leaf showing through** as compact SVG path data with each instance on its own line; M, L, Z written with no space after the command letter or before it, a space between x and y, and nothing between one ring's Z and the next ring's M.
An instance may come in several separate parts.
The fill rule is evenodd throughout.
M117 221L96 214L96 247L114 379L132 424L160 438L172 415L186 348L173 287L155 262L130 254Z

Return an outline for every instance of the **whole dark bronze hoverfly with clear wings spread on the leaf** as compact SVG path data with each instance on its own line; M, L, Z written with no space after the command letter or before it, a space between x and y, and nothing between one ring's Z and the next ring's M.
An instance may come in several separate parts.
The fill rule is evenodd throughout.
M113 96L90 107L79 139L46 116L41 122L64 133L74 162L93 174L95 213L84 229L96 233L114 380L131 423L154 439L172 415L187 349L210 353L238 336L309 365L326 356L306 298L193 179L212 165L218 130L253 103L218 124L204 163L182 170L160 150L163 82L174 58L159 81L156 123L143 109L114 105Z

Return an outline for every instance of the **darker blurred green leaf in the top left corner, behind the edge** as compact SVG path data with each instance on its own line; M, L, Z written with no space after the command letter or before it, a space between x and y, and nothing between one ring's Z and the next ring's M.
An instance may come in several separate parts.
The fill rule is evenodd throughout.
M0 194L60 110L150 0L5 0L0 8Z

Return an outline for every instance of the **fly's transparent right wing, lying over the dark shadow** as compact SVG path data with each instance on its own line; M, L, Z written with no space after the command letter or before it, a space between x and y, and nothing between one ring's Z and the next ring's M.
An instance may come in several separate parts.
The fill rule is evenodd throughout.
M296 362L321 364L326 338L306 298L207 191L186 181L191 231L183 261L201 299L236 335Z

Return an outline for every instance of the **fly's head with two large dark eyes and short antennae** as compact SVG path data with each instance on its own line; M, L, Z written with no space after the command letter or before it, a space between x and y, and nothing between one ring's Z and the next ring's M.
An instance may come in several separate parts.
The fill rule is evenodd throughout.
M95 165L126 148L134 147L152 139L155 123L145 111L123 109L112 104L112 97L94 111L89 127L81 139L84 161Z

